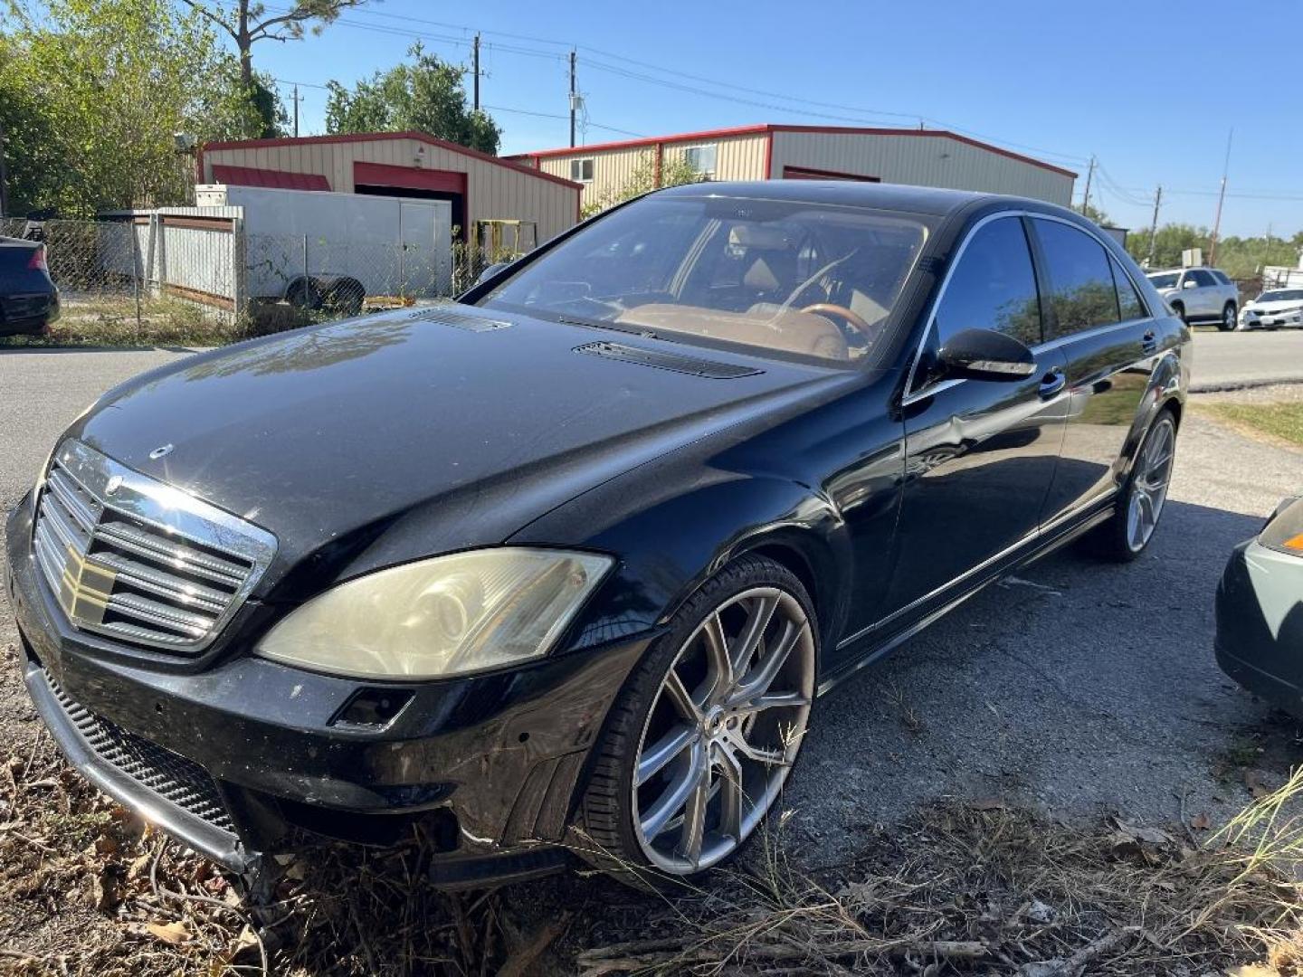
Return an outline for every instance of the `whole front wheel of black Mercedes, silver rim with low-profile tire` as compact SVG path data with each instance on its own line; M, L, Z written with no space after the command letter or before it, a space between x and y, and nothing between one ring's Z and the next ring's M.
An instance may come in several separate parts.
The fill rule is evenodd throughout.
M594 746L576 852L667 890L731 858L773 810L809 720L818 660L800 580L740 556L635 668Z

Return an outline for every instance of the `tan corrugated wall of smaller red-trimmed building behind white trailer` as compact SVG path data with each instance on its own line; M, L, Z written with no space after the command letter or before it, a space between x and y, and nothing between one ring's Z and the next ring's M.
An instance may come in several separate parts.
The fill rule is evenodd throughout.
M300 142L205 149L203 152L206 182L212 182L214 163L227 163L289 173L321 173L330 181L331 189L340 193L353 191L356 162L394 167L420 164L421 169L466 173L468 220L536 220L539 242L573 227L577 219L579 202L573 188L420 139Z

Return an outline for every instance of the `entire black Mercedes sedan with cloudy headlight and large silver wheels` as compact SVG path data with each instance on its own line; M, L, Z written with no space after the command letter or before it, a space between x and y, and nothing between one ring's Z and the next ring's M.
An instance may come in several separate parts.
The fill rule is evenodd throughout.
M840 679L1075 537L1145 548L1187 352L1061 207L657 191L109 391L9 517L27 688L235 870L418 828L444 885L689 875Z

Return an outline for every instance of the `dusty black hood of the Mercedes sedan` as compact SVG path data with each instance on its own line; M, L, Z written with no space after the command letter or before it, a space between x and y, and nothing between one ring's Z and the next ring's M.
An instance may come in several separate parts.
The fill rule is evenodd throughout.
M593 343L754 371L577 350ZM309 555L319 578L499 543L635 465L857 376L440 306L180 361L111 391L70 434L274 533L266 594ZM313 589L291 581L278 597Z

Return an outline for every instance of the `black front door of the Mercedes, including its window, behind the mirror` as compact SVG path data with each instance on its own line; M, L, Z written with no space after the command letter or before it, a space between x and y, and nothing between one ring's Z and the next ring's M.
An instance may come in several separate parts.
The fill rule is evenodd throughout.
M889 619L967 586L995 558L1037 533L1063 440L1063 353L1037 353L1027 379L934 379L955 332L1006 332L1041 343L1041 301L1023 219L979 224L937 304L903 404L906 486ZM954 589L950 585L955 585ZM923 603L920 603L923 602Z

